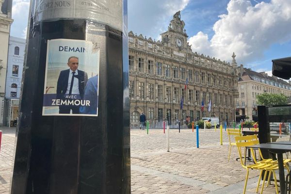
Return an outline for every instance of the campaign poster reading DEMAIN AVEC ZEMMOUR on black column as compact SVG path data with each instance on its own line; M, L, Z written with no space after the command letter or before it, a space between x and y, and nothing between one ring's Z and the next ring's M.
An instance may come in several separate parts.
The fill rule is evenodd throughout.
M44 116L98 116L99 48L85 40L48 40Z

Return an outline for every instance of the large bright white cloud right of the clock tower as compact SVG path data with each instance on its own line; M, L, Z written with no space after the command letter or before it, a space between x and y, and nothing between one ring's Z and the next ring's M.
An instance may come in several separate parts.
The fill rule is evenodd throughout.
M271 0L253 6L249 0L230 0L227 14L219 16L213 31L211 39L206 40L208 36L202 32L189 38L194 52L229 61L234 51L237 61L244 63L259 59L272 44L291 40L291 1Z

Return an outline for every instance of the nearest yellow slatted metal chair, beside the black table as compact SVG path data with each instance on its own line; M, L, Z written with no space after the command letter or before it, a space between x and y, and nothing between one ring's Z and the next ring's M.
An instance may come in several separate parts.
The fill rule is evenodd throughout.
M258 192L259 190L259 183L260 183L260 179L262 177L262 172L263 171L269 171L270 174L273 173L274 174L274 179L275 179L275 188L276 188L276 194L278 194L278 186L277 186L277 179L276 179L276 175L275 175L275 170L278 169L278 165L277 164L273 164L273 163L255 163L255 164L250 164L250 165L245 165L245 156L246 156L246 149L245 146L253 146L255 144L258 144L259 141L258 140L254 140L256 139L256 135L246 135L246 136L236 136L235 140L236 140L236 146L239 152L239 156L240 156L240 161L241 161L241 165L243 168L246 169L246 176L245 176L245 182L244 182L244 187L243 187L243 194L245 194L245 190L246 190L246 185L247 185L247 180L248 180L248 175L249 175L249 169L255 169L255 170L259 170L259 181L257 184L257 189L256 192ZM258 142L257 142L258 141ZM242 148L244 149L244 162L242 161ZM251 153L252 156L255 157L254 154L254 150L251 148ZM263 191L263 187L264 187L264 182L266 179L266 175L267 173L265 173L264 176L264 180L263 180L263 184L262 184L262 188L261 188L261 194ZM268 182L269 182L270 176L268 178Z

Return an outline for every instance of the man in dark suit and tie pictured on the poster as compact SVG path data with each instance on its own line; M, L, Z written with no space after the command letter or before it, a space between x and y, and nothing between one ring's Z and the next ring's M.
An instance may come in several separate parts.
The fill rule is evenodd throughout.
M60 72L57 83L57 98L63 100L81 100L88 80L86 72L78 70L79 58L72 56L68 59L69 69ZM79 114L80 105L60 105L59 113Z

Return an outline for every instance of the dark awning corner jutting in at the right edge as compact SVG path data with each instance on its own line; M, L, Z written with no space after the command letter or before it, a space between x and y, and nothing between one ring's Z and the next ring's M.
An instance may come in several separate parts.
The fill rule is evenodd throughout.
M291 78L291 57L274 59L272 74L278 78L289 80Z

